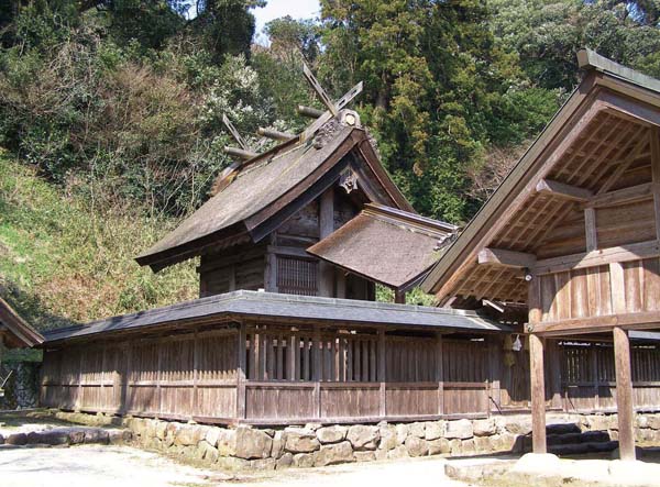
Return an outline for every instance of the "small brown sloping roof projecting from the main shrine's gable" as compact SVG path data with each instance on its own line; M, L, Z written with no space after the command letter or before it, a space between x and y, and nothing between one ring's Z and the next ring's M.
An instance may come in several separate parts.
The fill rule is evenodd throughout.
M438 258L458 228L380 204L307 250L312 255L386 286L406 289Z

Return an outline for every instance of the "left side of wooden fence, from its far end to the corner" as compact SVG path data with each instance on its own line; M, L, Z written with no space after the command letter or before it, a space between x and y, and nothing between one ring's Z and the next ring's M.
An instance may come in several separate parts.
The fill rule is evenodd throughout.
M41 402L89 412L231 418L237 331L99 343L44 353Z

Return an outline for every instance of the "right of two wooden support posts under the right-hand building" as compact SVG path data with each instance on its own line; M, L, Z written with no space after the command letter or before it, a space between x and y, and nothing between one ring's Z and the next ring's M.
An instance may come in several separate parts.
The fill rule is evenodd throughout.
M635 460L635 411L630 373L630 341L628 332L615 326L614 365L616 370L616 409L619 431L620 460Z

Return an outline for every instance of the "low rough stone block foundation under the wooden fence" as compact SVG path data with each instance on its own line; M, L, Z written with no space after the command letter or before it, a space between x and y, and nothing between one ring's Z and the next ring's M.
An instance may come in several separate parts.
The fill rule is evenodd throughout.
M529 416L481 420L286 428L210 427L145 418L57 412L61 419L94 424L121 422L134 444L227 469L279 469L428 455L472 456L525 453L531 446ZM616 414L549 416L549 424L607 431L618 438ZM638 414L638 442L660 444L660 414Z

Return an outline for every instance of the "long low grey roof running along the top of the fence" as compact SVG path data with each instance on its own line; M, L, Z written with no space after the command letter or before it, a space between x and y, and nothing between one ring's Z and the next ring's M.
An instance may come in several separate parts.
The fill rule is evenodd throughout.
M507 332L505 325L473 312L350 299L317 298L258 291L234 291L166 308L109 318L46 332L46 343L123 332L179 321L222 317L264 317L374 325L408 325L469 332Z

